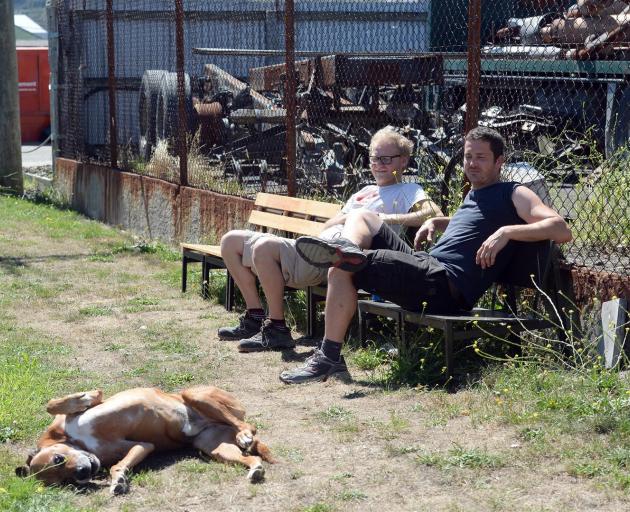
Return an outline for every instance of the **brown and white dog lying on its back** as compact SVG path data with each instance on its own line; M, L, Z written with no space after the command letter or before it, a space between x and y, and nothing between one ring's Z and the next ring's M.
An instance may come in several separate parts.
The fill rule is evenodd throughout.
M243 406L213 386L178 394L136 388L105 401L100 390L87 391L53 399L46 410L55 419L15 471L49 485L86 484L102 465L111 468L110 491L126 493L129 470L151 452L186 446L247 466L251 481L264 477L263 460L274 462L256 427L243 421Z

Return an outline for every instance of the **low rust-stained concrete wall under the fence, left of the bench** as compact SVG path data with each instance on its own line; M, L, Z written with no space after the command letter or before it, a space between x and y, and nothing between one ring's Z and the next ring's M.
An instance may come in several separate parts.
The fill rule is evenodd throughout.
M243 227L253 201L58 158L55 189L92 219L168 242L218 243Z

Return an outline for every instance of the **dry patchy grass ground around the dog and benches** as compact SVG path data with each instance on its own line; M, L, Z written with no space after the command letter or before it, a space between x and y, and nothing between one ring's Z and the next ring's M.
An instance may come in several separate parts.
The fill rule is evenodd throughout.
M295 362L277 353L244 357L213 339L209 331L235 315L208 303L199 307L198 274L190 277L193 291L179 293L179 255L169 246L13 197L0 196L0 215L0 510L160 509L185 494L215 500L226 488L248 500L244 508L275 502L279 492L292 511L368 503L395 509L388 501L393 494L383 489L404 485L406 495L421 500L410 475L425 472L423 486L431 492L450 496L454 475L462 493L475 495L486 509L506 509L493 505L503 487L525 492L508 481L521 477L527 483L570 477L571 492L612 500L618 509L627 504L627 373L592 359L571 371L542 359L487 364L469 347L458 354L459 369L472 366L475 373L457 393L446 393L432 385L442 371L442 343L425 332L398 347L399 357L379 343L349 343L351 389L283 387L267 374ZM17 243L25 239L28 244ZM222 297L224 274L211 280L212 294ZM303 300L300 294L287 300L298 330ZM387 340L387 326L382 330ZM280 464L269 470L272 485L250 486L241 468L187 457L141 469L133 476L136 492L115 504L105 489L78 493L13 476L49 422L44 406L52 396L206 382L249 389L239 397L262 434L275 436L270 444ZM366 451L369 458L359 463L357 454ZM494 472L508 477L495 484ZM482 482L477 473L490 476ZM379 488L385 475L387 485Z

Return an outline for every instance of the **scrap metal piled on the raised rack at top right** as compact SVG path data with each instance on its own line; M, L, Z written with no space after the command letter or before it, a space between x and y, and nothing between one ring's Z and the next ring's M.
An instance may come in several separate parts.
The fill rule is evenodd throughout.
M578 0L564 12L553 11L553 0L540 4L552 10L508 19L496 34L501 44L484 53L578 60L630 55L630 0Z

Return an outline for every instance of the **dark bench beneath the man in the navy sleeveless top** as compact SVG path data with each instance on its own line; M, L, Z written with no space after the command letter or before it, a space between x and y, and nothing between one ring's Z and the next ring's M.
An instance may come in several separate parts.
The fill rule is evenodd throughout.
M452 315L434 315L408 311L391 302L373 300L358 301L359 338L366 339L366 325L369 315L391 318L396 324L396 333L401 343L405 340L405 324L411 323L424 327L432 327L444 333L444 359L446 379L453 376L454 346L456 342L483 337L504 338L523 331L558 328L557 318L532 313L542 302L547 309L547 298L540 297L533 280L554 304L559 303L557 295L557 276L555 259L557 247L549 241L518 242L515 255L506 271L499 277L497 284L507 292L502 309L495 309L495 300L490 308L475 308ZM533 277L532 277L533 276ZM518 291L534 289L532 309L519 309ZM496 292L495 292L496 298ZM561 311L561 308L558 308Z

